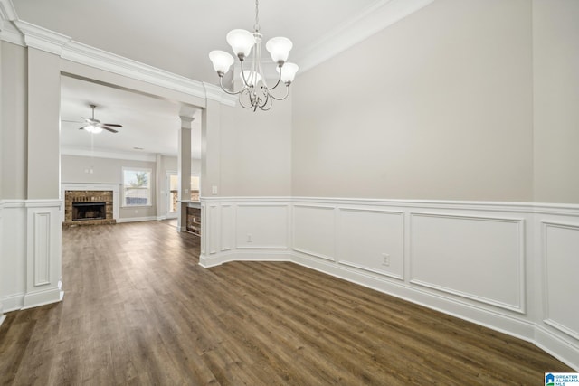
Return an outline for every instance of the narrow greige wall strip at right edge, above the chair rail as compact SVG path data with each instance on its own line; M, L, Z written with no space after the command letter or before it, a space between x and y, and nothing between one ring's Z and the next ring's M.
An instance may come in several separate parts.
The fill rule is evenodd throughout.
M535 201L579 203L579 2L533 2Z

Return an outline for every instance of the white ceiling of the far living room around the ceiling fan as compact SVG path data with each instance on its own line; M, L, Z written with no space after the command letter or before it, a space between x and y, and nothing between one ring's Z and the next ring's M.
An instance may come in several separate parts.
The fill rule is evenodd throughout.
M103 130L92 135L79 129L84 126L81 117L91 117L91 104L97 105L95 118L100 122L123 126L118 128L119 133ZM62 153L89 154L94 150L112 155L135 152L176 156L181 112L179 105L163 99L62 76ZM201 122L197 117L192 127L192 138L192 156L200 158Z

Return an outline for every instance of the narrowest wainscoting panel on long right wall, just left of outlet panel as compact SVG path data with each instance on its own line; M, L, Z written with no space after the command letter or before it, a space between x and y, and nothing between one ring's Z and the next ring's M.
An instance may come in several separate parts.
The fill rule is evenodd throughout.
M294 205L293 249L321 259L336 256L335 208L320 205Z

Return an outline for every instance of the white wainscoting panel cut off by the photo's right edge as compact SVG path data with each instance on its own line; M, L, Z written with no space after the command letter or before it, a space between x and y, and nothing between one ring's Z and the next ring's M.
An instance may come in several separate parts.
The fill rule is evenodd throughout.
M579 340L579 223L542 222L545 323Z

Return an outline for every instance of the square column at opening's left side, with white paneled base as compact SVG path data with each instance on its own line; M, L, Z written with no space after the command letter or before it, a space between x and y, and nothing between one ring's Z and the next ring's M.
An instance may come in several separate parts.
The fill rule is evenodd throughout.
M24 308L62 299L60 57L28 47L26 294Z

